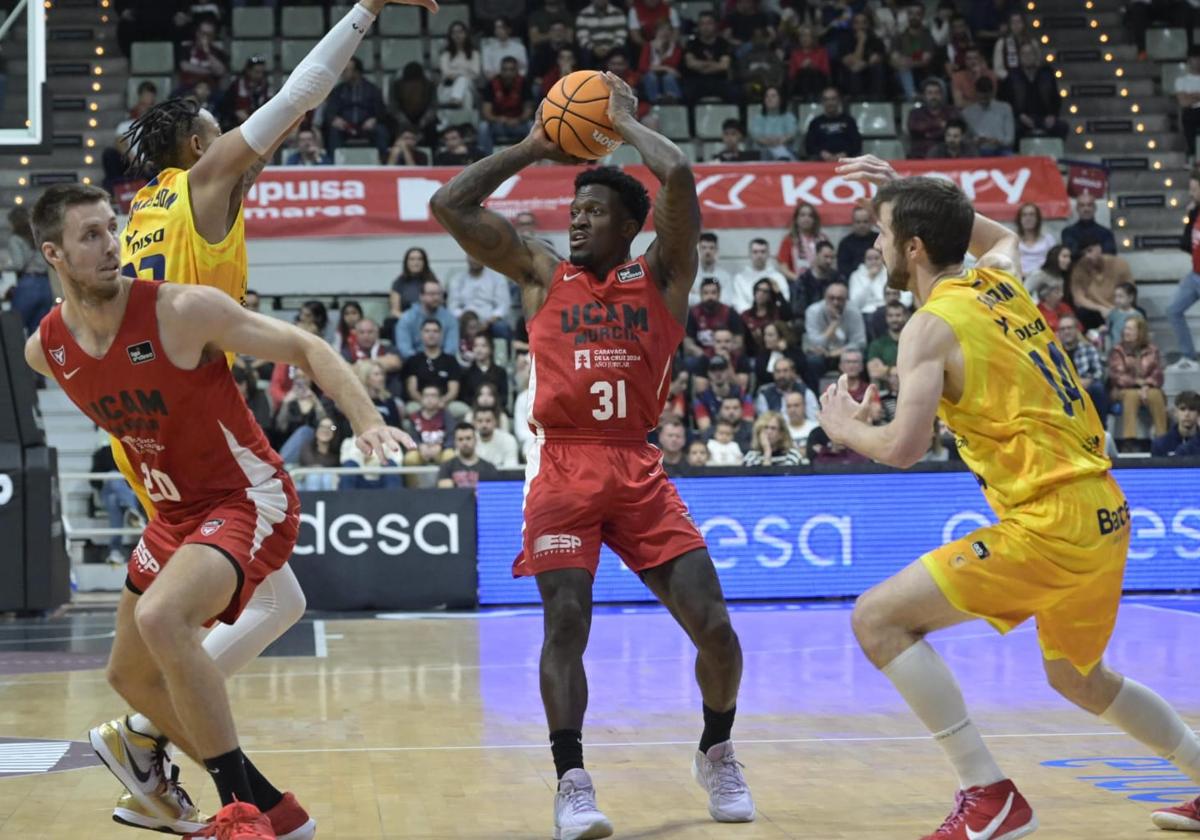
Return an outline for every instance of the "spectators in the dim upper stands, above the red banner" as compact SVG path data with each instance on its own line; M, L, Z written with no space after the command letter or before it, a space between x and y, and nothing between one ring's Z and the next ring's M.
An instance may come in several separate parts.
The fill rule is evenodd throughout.
M229 0L118 6L126 52L164 34L176 44L174 89L144 82L131 119L157 98L187 96L229 130L272 95L272 59L230 65ZM647 120L655 106L742 106L745 118L728 120L712 160L859 154L847 101L914 103L904 126L910 157L1009 155L1024 137L1068 128L1024 6L942 0L928 13L924 1L905 0L721 0L683 10L667 0L476 0L469 24L456 20L438 36L428 66L377 76L352 61L284 160L323 166L354 145L386 164L467 163L520 140L541 96L583 68L629 82ZM802 125L793 106L806 102L822 112Z

